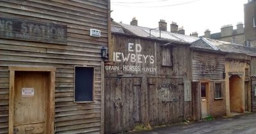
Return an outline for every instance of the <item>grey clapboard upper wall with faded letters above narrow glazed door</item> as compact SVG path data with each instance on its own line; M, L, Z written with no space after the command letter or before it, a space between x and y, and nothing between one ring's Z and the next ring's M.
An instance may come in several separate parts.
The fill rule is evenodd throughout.
M193 81L223 80L225 72L225 55L193 51Z

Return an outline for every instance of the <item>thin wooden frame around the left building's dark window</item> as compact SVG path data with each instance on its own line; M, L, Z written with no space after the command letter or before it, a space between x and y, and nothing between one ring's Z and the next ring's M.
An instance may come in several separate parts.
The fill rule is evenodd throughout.
M93 68L92 76L92 100L77 101L76 100L76 67L79 68ZM93 103L95 101L95 67L93 66L74 66L74 103Z

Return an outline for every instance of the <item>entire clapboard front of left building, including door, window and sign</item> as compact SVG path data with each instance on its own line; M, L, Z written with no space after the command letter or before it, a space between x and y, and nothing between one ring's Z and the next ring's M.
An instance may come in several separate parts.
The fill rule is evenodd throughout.
M109 4L0 1L0 133L103 132Z

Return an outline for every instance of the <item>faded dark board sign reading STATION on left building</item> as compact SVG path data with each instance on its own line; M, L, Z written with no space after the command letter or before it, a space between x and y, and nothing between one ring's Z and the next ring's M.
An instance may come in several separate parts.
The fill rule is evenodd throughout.
M0 17L0 38L67 44L67 26Z

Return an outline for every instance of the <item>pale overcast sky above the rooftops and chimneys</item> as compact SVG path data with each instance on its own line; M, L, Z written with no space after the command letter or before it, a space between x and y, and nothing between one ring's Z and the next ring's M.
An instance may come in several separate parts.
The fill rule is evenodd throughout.
M244 22L243 4L248 0L111 0L111 17L130 24L133 17L138 26L156 28L160 19L166 20L167 31L171 22L184 27L185 34L204 35L220 32L221 26Z

